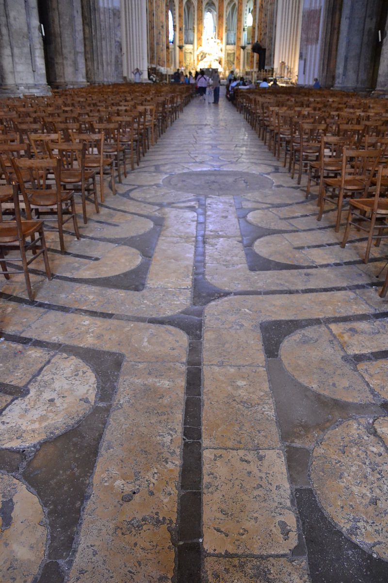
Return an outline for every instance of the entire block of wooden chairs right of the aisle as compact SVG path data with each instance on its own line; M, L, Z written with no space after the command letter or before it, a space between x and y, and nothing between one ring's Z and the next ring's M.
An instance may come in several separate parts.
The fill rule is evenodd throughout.
M278 159L283 151L283 164L288 159L292 178L297 171L297 184L302 173L307 173L307 197L312 182L318 185L318 220L326 202L334 203L334 229L339 231L348 202L341 247L347 243L351 226L364 231L363 260L368 262L372 241L378 246L388 236L387 103L354 99L346 93L335 97L329 92L281 93L237 92L236 105ZM382 293L386 290L384 286Z

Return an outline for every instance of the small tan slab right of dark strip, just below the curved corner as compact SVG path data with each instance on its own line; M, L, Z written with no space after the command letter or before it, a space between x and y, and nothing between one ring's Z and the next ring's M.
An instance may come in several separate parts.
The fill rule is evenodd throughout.
M205 328L204 364L264 366L261 334L254 330Z

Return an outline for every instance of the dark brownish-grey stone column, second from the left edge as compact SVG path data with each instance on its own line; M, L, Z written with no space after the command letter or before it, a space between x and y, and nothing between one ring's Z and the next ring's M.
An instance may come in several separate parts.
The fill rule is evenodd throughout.
M49 84L56 88L86 85L81 0L48 0L40 18Z

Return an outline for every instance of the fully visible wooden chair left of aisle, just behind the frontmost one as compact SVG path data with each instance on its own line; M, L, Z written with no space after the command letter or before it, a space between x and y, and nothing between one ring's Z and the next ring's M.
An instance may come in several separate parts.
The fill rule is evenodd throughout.
M78 230L76 207L74 205L74 191L66 191L61 188L60 160L56 158L44 158L41 160L12 159L13 167L19 188L23 195L26 206L27 219L32 219L31 210L41 215L53 216L51 220L58 222L58 233L60 252L65 252L65 242L63 240L63 225L69 220L73 220L74 233L77 239L80 238ZM30 186L27 188L23 180L23 172L27 170L30 174ZM54 177L53 181L47 180L47 175ZM66 219L65 219L66 217Z

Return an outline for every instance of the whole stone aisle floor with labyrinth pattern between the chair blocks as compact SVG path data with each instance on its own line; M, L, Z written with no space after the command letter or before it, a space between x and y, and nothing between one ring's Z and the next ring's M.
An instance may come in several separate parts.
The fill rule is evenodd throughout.
M1 581L388 581L387 247L304 184L195 99L0 282Z

